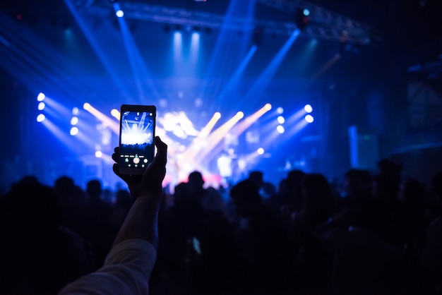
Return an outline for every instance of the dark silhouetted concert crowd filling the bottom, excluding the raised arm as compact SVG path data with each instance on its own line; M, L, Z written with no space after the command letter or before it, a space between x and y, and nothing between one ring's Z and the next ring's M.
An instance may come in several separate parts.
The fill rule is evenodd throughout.
M267 173L215 189L193 171L165 189L150 294L442 292L442 172L424 183L383 159L342 183ZM0 294L57 294L99 269L133 201L99 179L14 183L0 199Z

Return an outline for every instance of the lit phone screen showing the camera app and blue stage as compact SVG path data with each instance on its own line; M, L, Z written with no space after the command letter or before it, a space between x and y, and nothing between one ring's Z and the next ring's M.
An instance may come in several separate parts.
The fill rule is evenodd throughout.
M121 116L121 166L144 168L153 155L153 113L124 112Z

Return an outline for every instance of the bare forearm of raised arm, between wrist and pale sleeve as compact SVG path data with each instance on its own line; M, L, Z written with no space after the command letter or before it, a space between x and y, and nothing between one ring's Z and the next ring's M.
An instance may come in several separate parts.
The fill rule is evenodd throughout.
M128 239L143 239L155 248L158 243L158 209L161 198L143 195L136 198L114 240L114 246Z

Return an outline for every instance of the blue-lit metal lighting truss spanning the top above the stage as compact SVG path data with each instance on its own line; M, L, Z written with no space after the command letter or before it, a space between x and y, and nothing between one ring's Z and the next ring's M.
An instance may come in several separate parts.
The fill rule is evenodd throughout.
M306 2L289 2L282 0L256 0L256 2L294 13L297 8L308 8L310 11L309 25L302 33L321 40L337 40L350 44L366 45L371 42L369 28L345 16L339 16L325 9ZM297 25L293 22L256 19L246 21L244 18L228 17L216 13L192 11L184 8L155 6L145 3L120 1L119 6L124 11L124 17L132 20L145 20L157 23L169 23L199 28L227 29L250 31L261 27L265 34L291 35ZM104 16L112 13L109 4L97 3L85 8L88 13L98 13Z

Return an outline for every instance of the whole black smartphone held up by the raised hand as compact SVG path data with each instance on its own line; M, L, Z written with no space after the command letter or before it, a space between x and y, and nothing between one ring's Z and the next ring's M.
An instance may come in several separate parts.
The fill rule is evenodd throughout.
M119 172L141 175L154 156L157 108L153 105L121 105Z

